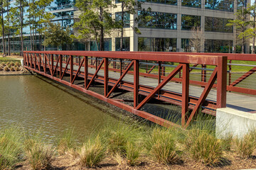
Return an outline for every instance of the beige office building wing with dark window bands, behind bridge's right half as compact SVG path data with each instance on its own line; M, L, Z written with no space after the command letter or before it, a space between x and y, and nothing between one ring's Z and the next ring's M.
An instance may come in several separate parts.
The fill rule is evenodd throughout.
M228 20L235 19L239 4L232 0L140 0L142 8L129 16L129 26L124 28L123 50L130 51L193 51L189 41L191 28L202 29L205 39L201 52L238 52L235 30ZM250 4L250 1L247 1ZM119 13L120 3L114 12ZM147 16L151 16L149 20ZM141 34L134 33L139 28ZM119 50L119 33L112 35L112 50ZM237 49L236 49L237 48ZM249 46L246 47L248 52ZM235 51L234 51L235 52Z

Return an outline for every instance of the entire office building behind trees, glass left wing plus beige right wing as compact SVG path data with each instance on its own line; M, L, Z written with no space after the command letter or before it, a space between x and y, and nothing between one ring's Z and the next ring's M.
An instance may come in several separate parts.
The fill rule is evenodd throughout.
M240 52L240 46L235 40L233 27L228 27L228 20L235 19L235 13L240 4L235 0L137 0L142 3L142 9L136 14L126 13L124 26L124 51L159 51L159 52L191 52L193 47L192 28L201 28L204 41L201 42L200 52ZM10 1L11 6L15 6ZM113 8L112 17L120 19L121 3L114 1L117 8ZM250 0L247 0L250 4ZM28 8L28 7L26 7ZM149 9L150 10L146 10ZM26 11L26 10L25 10ZM62 28L72 28L75 17L80 11L75 8L75 0L54 0L46 9L53 13L52 22L60 23ZM24 23L28 23L24 13ZM4 12L4 17L6 11ZM134 32L139 28L141 34ZM24 50L31 50L30 27L23 28ZM42 37L36 33L36 49L43 50L40 45ZM0 38L2 39L2 38ZM7 38L6 47L7 47ZM1 40L2 41L2 40ZM2 42L0 42L2 44ZM71 45L47 47L46 50L97 50L95 42L79 42L75 40ZM3 51L2 45L0 50ZM21 49L19 35L11 35L11 52ZM250 45L246 45L246 52L250 52ZM105 37L106 51L120 50L120 32L114 31Z

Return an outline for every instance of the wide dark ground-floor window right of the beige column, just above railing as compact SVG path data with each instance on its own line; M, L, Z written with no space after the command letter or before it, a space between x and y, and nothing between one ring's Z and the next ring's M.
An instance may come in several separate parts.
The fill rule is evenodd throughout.
M176 52L176 38L138 38L138 51Z

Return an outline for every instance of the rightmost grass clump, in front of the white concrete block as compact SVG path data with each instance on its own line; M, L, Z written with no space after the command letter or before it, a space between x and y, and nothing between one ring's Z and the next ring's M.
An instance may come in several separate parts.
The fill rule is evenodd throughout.
M235 152L237 152L241 158L250 157L255 148L255 140L251 134L247 134L241 139L235 140Z

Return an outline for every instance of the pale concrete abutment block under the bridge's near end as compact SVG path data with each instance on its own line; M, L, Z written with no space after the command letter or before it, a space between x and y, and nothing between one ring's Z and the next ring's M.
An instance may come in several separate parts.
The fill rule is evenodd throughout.
M218 108L216 113L216 136L243 137L256 129L256 113L237 111L232 108Z

